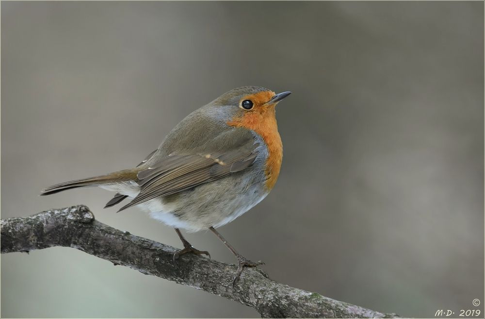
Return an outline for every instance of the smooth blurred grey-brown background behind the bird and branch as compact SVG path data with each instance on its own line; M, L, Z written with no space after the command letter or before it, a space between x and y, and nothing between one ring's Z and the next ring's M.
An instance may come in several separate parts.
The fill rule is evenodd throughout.
M1 213L86 204L66 180L138 164L227 90L278 106L281 175L220 231L273 279L406 317L484 297L483 2L2 2ZM234 263L210 233L187 238ZM257 317L71 248L1 256L2 317ZM458 314L458 313L457 313Z

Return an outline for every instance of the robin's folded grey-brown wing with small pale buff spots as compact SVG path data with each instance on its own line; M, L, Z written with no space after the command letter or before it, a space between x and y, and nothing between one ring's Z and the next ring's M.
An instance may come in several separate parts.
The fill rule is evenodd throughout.
M257 153L252 135L237 141L228 151L168 155L138 173L140 193L121 210L151 199L176 194L249 167ZM217 141L215 142L217 143Z

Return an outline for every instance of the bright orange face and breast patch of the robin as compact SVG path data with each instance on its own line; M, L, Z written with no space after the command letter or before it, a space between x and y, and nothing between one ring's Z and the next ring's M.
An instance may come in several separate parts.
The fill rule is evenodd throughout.
M283 144L276 124L275 105L265 105L274 95L275 92L263 91L244 97L241 101L251 100L254 103L253 109L227 122L229 126L244 127L263 138L269 152L265 167L268 190L275 186L283 160Z

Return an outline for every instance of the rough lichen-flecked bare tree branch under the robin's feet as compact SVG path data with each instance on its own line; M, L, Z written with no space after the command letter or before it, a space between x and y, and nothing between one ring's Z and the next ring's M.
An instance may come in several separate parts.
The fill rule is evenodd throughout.
M105 225L95 220L93 213L83 205L53 209L30 217L2 219L0 224L1 253L73 247L115 265L251 306L262 317L396 317L276 283L260 269L244 269L233 288L235 265L194 254L182 255L177 268L172 262L173 253L177 251L174 247Z

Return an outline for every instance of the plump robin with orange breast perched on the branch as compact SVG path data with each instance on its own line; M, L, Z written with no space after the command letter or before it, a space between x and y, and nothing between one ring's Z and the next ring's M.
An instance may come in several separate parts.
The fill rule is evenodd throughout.
M283 158L275 106L291 92L259 86L235 88L184 118L162 144L135 168L50 186L41 195L99 186L116 192L106 207L127 197L119 211L139 206L175 228L184 249L195 249L180 229L210 229L238 259L233 285L244 267L263 264L244 258L216 231L262 201L275 186Z

